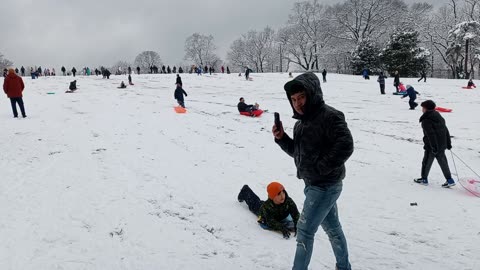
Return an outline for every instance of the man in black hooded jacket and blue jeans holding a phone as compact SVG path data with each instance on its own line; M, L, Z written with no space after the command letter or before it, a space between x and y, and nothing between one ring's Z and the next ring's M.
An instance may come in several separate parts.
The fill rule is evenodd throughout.
M293 118L293 139L283 126L273 126L275 142L295 161L297 177L305 182L305 203L297 224L293 269L307 269L318 226L327 233L337 269L350 270L347 241L338 219L345 162L353 153L353 138L342 112L323 101L320 80L308 72L285 84Z

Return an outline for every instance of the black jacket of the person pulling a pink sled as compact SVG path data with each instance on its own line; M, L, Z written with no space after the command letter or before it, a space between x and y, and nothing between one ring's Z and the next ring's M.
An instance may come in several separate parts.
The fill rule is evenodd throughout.
M438 151L452 148L450 132L445 124L445 119L439 112L426 111L420 117L420 123L422 123L423 142L425 143L423 149L438 153Z

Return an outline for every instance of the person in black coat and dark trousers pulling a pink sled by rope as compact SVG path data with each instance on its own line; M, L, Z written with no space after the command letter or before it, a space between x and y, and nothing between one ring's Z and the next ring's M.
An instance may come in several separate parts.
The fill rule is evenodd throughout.
M448 167L445 150L452 149L452 141L450 132L448 131L445 119L435 110L436 104L432 100L422 102L423 115L420 117L420 123L423 129L423 161L421 178L414 181L419 184L428 185L428 174L432 168L433 161L437 159L438 165L442 169L446 182L442 187L451 187L455 185L455 181Z

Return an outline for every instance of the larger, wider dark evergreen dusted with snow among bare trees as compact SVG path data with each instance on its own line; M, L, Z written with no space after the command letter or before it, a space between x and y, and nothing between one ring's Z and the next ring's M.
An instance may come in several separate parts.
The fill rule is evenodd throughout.
M400 76L417 76L428 67L430 52L419 47L417 31L400 31L390 36L390 41L381 53L386 70L393 74L398 70Z

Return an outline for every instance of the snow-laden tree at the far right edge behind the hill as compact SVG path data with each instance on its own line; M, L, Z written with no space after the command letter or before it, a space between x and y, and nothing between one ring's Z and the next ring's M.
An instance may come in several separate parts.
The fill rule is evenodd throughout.
M448 39L450 44L446 56L449 63L455 67L457 78L470 77L474 65L480 59L480 23L461 22L448 33ZM460 70L463 71L462 74L458 74Z

